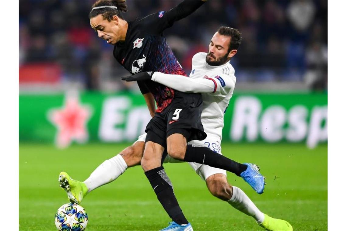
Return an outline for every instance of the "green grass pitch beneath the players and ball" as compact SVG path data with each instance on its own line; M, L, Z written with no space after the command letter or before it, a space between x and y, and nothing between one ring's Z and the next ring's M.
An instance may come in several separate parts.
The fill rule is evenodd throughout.
M59 172L84 180L126 146L87 144L59 150L48 144L20 144L19 230L56 230L56 210L68 203L59 187ZM308 150L304 144L222 143L222 150L236 161L261 166L267 182L262 195L233 174L228 173L228 180L262 212L286 219L294 230L328 229L327 144ZM164 167L194 230L262 230L251 217L213 197L187 163ZM95 189L81 205L89 216L86 230L159 230L170 221L140 166Z

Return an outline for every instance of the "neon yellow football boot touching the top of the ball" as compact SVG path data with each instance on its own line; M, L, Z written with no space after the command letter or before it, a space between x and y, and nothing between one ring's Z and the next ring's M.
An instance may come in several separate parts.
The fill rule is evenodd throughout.
M71 203L81 203L88 193L88 188L83 182L72 179L66 172L60 172L58 181Z

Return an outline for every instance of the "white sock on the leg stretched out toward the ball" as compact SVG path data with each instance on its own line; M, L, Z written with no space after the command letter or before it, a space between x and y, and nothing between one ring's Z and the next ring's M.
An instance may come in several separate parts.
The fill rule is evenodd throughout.
M101 185L108 184L117 179L127 168L128 166L120 154L105 160L84 181L84 184L86 184L88 188L88 193Z

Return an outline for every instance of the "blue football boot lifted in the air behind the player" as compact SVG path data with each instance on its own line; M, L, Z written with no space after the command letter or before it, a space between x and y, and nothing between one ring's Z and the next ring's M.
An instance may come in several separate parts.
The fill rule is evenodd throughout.
M264 192L265 186L265 177L259 172L259 166L256 166L254 163L244 163L247 165L247 169L241 172L240 177L244 179L258 194Z

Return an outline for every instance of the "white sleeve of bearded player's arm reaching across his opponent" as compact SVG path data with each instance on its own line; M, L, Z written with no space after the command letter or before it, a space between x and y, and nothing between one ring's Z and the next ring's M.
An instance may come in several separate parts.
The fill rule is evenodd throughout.
M192 79L187 78L183 75L154 72L154 74L152 75L152 81L161 83L162 85L182 92L225 95L231 87L232 89L234 89L235 82L227 79L230 77L222 78L219 75L217 75L216 77Z

